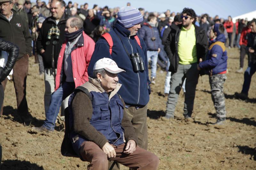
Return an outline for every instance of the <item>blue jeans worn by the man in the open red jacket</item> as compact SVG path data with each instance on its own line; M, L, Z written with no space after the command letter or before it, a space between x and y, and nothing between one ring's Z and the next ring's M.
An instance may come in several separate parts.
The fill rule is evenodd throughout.
M52 93L51 103L45 114L46 119L43 124L46 129L54 130L55 121L60 111L61 102L68 97L74 91L74 89L74 82L64 82L55 92Z

